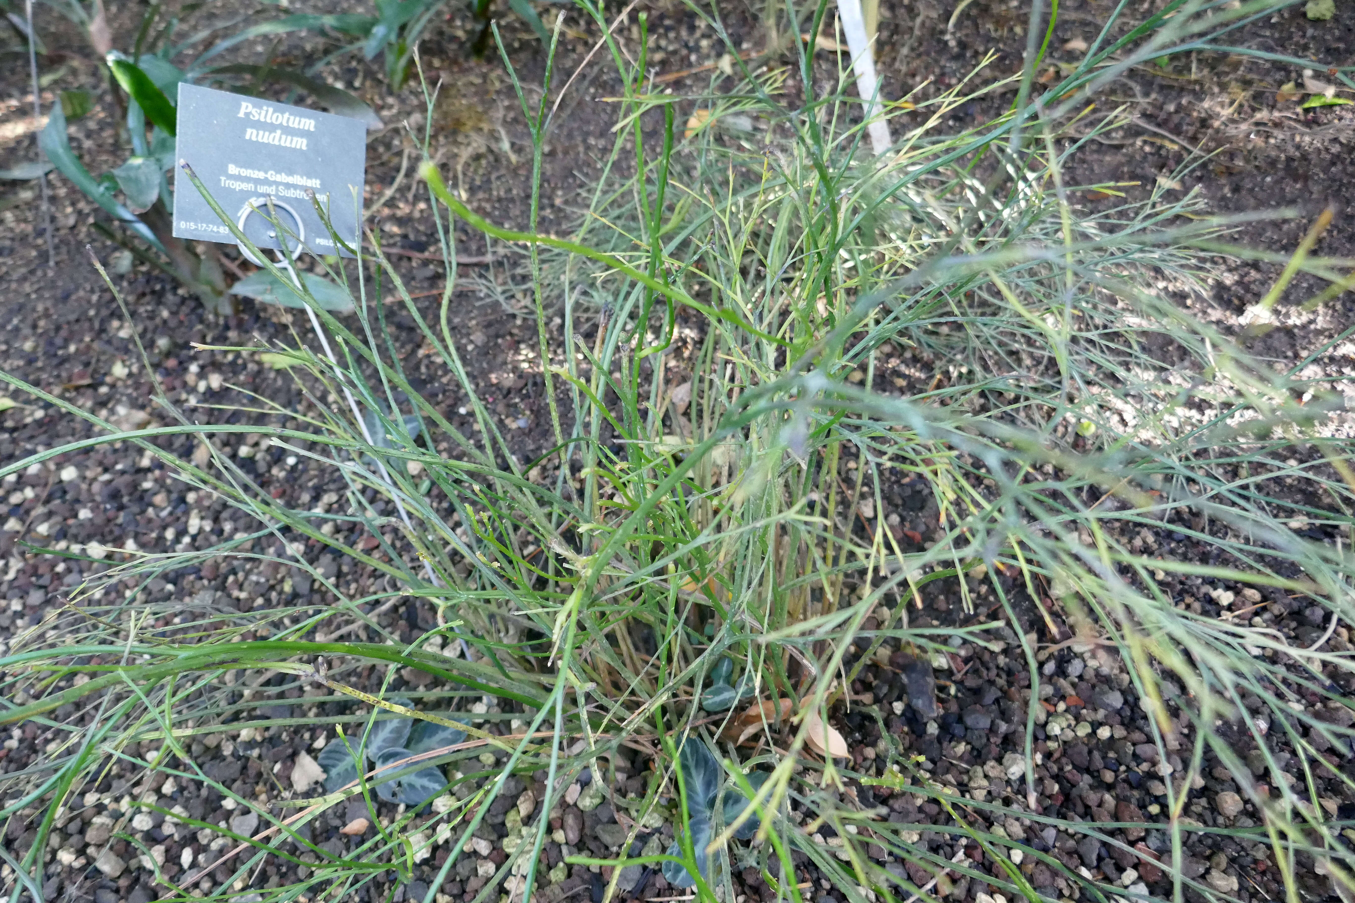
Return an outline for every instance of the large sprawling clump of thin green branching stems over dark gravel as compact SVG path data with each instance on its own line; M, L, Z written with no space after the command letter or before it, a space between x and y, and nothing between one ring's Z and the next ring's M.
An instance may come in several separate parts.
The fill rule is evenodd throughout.
M427 718L388 701L383 688L369 693L352 686L359 667L385 663L386 682L400 666L444 684L421 693L402 690L416 707L444 709L449 699L491 696L503 709L496 718L524 726L495 736L449 722L469 728L472 739L401 768L444 766L451 789L469 792L431 820L416 823L415 814L405 812L382 824L360 854L348 858L298 841L318 862L305 880L270 889L270 900L318 892L337 899L386 869L409 879L412 850L444 842L450 856L428 884L424 903L431 903L508 776L543 770L547 789L538 815L484 892L497 895L507 887L512 899L530 899L542 881L537 862L549 833L542 814L560 803L581 769L595 776L614 769L626 746L648 750L656 768L642 797L621 799L608 789L610 801L637 823L660 812L678 826L682 856L622 856L610 864L682 862L703 902L714 900L720 888L724 899L733 899L732 872L751 865L783 899L801 903L793 852L808 856L852 903L864 902L863 888L888 900L925 896L867 856L864 829L870 842L894 857L934 871L950 868L1009 896L1034 899L1023 873L1011 866L1014 841L973 812L989 823L1027 818L1107 845L1121 843L1114 826L1043 815L1023 806L1026 800L966 800L962 812L953 788L882 731L885 750L870 780L908 785L943 806L944 816L932 824L906 827L973 838L1005 864L1007 877L940 861L906 842L905 826L877 820L835 792L855 769L812 755L806 743L813 719L799 719L808 712L828 719L844 684L877 650L901 643L925 650L957 632L909 627L908 607L934 581L953 581L966 611L977 611L974 597L986 586L985 602L995 613L961 631L970 642L986 643L1001 623L1015 624L1014 600L999 571L1019 574L1030 597L1047 596L1089 640L1130 665L1160 749L1188 726L1182 749L1187 778L1199 773L1209 753L1247 777L1240 787L1255 787L1248 765L1214 731L1217 719L1245 713L1244 696L1264 701L1270 732L1286 738L1305 769L1317 768L1305 734L1350 741L1350 730L1287 705L1295 692L1337 700L1332 678L1350 670L1347 658L1321 646L1295 648L1241 623L1201 617L1173 605L1163 588L1165 571L1207 575L1282 588L1333 616L1351 613L1355 563L1348 546L1312 542L1285 527L1301 514L1350 535L1350 449L1321 432L1321 417L1335 402L1322 386L1301 380L1309 361L1286 372L1260 366L1156 292L1163 279L1188 286L1207 278L1199 248L1228 249L1222 233L1230 221L1169 225L1173 214L1198 210L1198 202L1160 195L1092 213L1075 207L1062 184L1066 160L1087 141L1087 129L1095 134L1118 122L1114 114L1091 126L1072 116L1100 85L1138 61L1207 50L1230 23L1268 15L1272 7L1215 7L1205 16L1199 4L1175 3L1130 30L1119 28L1117 18L1075 72L1041 99L1031 93L1031 62L1019 77L1012 110L991 123L943 133L950 110L995 85L966 83L916 97L919 111L909 126L896 123L902 135L896 150L878 160L862 146L854 115L859 100L846 61L839 61L836 85L816 88L818 93L799 103L787 102L787 77L824 84L816 77L812 46L798 51L790 72L744 69L733 89L720 92L714 84L702 95L699 103L711 110L709 126L683 141L675 122L684 119L688 100L646 88L645 18L638 54L627 58L602 11L587 3L580 8L608 35L625 84L608 175L592 203L598 215L570 240L537 233L551 112L547 65L539 104L530 104L519 88L534 142L527 229L511 232L470 210L425 160L420 173L447 264L436 315L413 303L378 237L370 236L378 276L369 279L366 265L356 269L350 286L359 299L356 326L313 307L343 363L305 344L271 349L295 361L291 372L312 403L306 412L270 410L267 399L259 399L275 422L199 424L161 398L179 424L117 433L92 414L5 376L106 435L49 449L0 474L95 443L133 443L198 491L218 494L260 524L252 535L209 551L125 556L80 589L79 607L16 639L0 659L11 692L22 688L34 697L3 719L33 719L57 736L41 766L5 778L7 797L18 797L5 815L24 807L43 812L33 850L46 849L58 812L110 762L234 796L199 768L191 738L228 730L225 719L234 716L241 720L229 724L232 731L313 723L251 715L257 703L233 689L240 671L251 686L278 673L278 692L320 682L333 695L317 701L356 697L367 704L366 712L325 719L336 726L370 726L388 715ZM821 34L827 14L824 4L808 14L787 8L787 30ZM1042 15L1037 7L1030 34L1045 34ZM718 20L713 24L722 34ZM553 54L554 42L551 62ZM978 73L973 83L981 83ZM431 104L434 88L424 89ZM660 126L657 145L642 130L650 122ZM1073 125L1083 131L1072 131ZM756 139L748 126L757 130ZM424 146L428 138L424 131ZM634 162L633 177L611 175L623 156ZM455 218L526 245L554 440L537 460L515 458L466 372L453 329ZM614 232L598 223L611 223ZM1332 279L1339 278L1335 265L1302 264ZM472 433L458 431L406 378L378 301L392 291L467 399ZM564 320L562 337L547 328L556 311ZM581 337L589 329L591 343ZM1183 356L1176 368L1153 356L1154 343L1164 338ZM871 386L886 343L947 363L938 364L939 379L912 397L877 393ZM671 374L678 372L690 382L687 401L675 398ZM322 402L343 387L356 397L360 416ZM1294 401L1299 389L1313 393L1306 405ZM371 412L383 436L363 429L362 417ZM309 429L278 425L289 417ZM420 439L406 417L419 425ZM317 514L256 490L226 454L243 432L339 474L348 486L347 509ZM209 466L186 454L187 437L215 441ZM1286 464L1286 449L1295 441L1313 443L1324 459ZM421 464L423 477L411 475L411 462ZM920 551L902 551L883 527L882 487L900 475L924 481L939 505L940 528ZM1331 509L1291 501L1293 491L1276 489L1283 479L1324 493ZM373 498L400 516L378 513ZM343 529L327 531L325 521ZM1141 527L1168 521L1215 548L1217 560L1157 560L1129 548ZM1210 529L1209 523L1226 529ZM364 548L362 536L374 536L378 546ZM304 552L310 540L386 579L367 597L350 596ZM115 589L118 581L144 585L213 555L305 569L337 602L213 616L180 625L196 630L195 642L171 643L146 628L165 613L164 604L142 604L136 592ZM360 605L398 596L431 604L438 627L411 643L386 642L390 635ZM889 616L864 631L881 605ZM375 642L308 639L358 624ZM271 638L241 640L247 630ZM1014 653L1038 686L1037 650L1020 631L1016 638ZM467 653L458 651L462 643ZM79 665L77 657L99 657L102 663ZM767 716L768 728L786 731L782 741L752 755L718 739L721 722L698 724L706 715L694 701L726 658L751 676L759 699L793 701L785 720L775 707ZM91 680L77 684L76 676ZM64 704L75 705L76 716L58 723L51 712ZM1024 732L1028 762L1037 705L1033 693ZM1240 723L1255 734L1275 776L1271 796L1251 795L1264 814L1263 826L1244 833L1275 850L1289 887L1289 866L1299 852L1328 862L1333 875L1351 871L1350 853L1335 839L1340 826L1322 818L1316 799L1306 799L1312 785L1282 780L1272 743L1253 719ZM137 758L131 745L138 741L161 745L154 761ZM753 799L744 812L756 815L766 839L732 845L737 826L714 826L713 850L725 853L711 856L705 873L690 833L682 830L692 815L691 789L673 770L680 747L692 742L711 743L725 785ZM485 750L497 755L492 768L476 762ZM744 770L757 766L770 777L753 792ZM1030 769L1027 787L1034 784ZM355 793L370 800L371 780L367 774L308 800L290 822L266 810L260 818L297 838L299 820L320 808ZM1188 780L1169 783L1172 816L1186 804L1183 787ZM791 804L831 824L847 858L813 843L790 819ZM1187 889L1206 892L1182 872L1183 842L1194 829L1172 818L1163 830L1172 841L1161 866L1172 876L1173 894L1180 899ZM264 857L290 856L263 835L237 839L245 853L210 899L237 894L233 883L251 880ZM1083 894L1108 889L1047 854L1023 852ZM42 862L34 853L16 865L20 883L41 883ZM191 889L169 879L164 884L180 895Z

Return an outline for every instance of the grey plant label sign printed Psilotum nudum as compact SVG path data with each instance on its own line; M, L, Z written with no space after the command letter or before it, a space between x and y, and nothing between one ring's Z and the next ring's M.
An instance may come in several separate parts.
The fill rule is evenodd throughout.
M280 249L286 241L294 253L352 256L333 241L310 192L333 232L356 246L367 162L360 119L179 83L178 133L178 158L256 246ZM234 244L196 187L175 172L173 234ZM291 234L276 234L266 218L270 199ZM255 210L263 215L252 215Z

